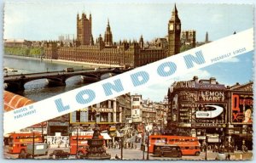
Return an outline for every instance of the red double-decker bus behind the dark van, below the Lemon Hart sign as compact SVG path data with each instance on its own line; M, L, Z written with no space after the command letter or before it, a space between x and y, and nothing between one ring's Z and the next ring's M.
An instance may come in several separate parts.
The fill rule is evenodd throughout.
M180 146L183 155L200 155L198 138L185 136L151 135L149 136L149 152L152 153L154 144L176 144Z

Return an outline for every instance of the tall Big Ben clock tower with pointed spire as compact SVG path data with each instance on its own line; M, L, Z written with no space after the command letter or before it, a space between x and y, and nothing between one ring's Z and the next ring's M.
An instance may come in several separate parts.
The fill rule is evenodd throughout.
M168 23L168 54L170 57L174 54L179 53L180 48L180 32L181 32L181 22L177 15L176 4L172 10L172 18Z

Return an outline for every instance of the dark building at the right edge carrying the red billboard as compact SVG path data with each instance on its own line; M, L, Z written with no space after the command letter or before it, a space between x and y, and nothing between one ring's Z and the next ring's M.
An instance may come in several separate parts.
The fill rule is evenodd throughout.
M253 82L228 87L230 113L226 135L231 143L240 148L253 149Z

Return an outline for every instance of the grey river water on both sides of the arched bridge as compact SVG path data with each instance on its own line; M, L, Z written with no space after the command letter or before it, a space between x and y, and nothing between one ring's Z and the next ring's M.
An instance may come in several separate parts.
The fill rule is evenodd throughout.
M73 67L75 70L81 70L86 68L91 68L90 65L75 65L71 63L51 63L50 61L44 61L40 59L29 59L20 58L12 56L3 57L3 66L9 69L17 70L17 72L9 71L8 75L14 74L26 74L34 72L45 72L47 70L65 70L67 67ZM6 73L3 73L6 75ZM48 87L46 79L40 79L32 82L27 82L25 84L25 90L17 92L26 98L30 98L34 101L39 101L44 98L50 98L54 95L65 93L67 91L73 90L77 87L84 86L80 76L73 76L66 81L66 86L61 87Z

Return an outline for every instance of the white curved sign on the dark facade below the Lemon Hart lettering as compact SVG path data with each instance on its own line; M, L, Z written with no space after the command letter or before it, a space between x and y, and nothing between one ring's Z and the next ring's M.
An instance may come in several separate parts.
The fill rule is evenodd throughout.
M196 118L215 118L218 115L220 115L223 112L223 107L217 106L217 105L206 105L206 107L212 107L216 110L211 111L196 111L195 117Z

